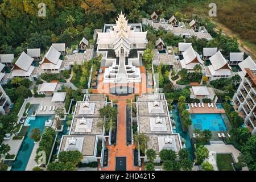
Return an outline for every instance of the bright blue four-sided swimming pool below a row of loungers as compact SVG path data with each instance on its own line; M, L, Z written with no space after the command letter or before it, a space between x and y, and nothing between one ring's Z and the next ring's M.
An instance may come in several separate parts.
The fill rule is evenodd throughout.
M191 114L190 117L194 129L227 131L221 114Z

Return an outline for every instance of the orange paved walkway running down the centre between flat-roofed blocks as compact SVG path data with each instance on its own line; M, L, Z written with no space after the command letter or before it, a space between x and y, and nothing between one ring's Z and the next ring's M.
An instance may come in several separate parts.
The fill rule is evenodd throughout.
M115 170L116 156L126 157L127 171L139 170L139 167L134 167L133 165L133 150L135 146L126 145L126 100L119 100L118 102L117 145L107 147L109 149L109 166L106 168L101 168L102 171Z

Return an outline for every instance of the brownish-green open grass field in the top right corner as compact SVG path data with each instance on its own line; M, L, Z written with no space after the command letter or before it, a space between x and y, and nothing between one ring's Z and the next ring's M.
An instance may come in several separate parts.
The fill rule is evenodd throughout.
M218 27L224 28L224 33L236 36L240 45L256 55L256 0L205 0L189 3L183 8L183 14L199 14L208 16L209 3L216 3ZM229 29L226 30L225 29Z

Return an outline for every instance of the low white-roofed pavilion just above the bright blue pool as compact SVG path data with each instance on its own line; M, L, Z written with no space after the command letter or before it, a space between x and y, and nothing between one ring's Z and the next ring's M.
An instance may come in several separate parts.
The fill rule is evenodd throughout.
M192 86L189 88L191 95L190 98L197 98L199 100L203 100L204 98L209 98L210 100L214 100L214 90L211 87L207 86Z

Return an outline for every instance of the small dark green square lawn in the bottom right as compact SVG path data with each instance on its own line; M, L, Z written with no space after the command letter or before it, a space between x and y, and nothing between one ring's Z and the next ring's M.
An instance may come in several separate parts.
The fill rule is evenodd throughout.
M231 163L234 163L231 154L217 154L217 166L219 171L233 171Z

